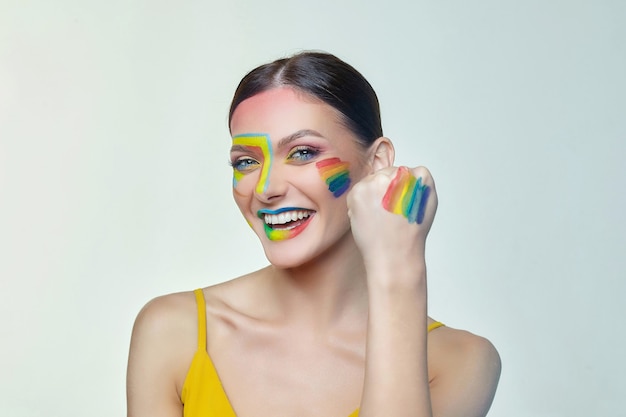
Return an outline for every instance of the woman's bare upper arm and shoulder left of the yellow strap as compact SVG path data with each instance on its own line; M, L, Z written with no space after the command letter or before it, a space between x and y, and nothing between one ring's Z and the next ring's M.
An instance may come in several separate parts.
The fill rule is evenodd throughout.
M185 301L182 294L160 297L137 316L126 379L128 417L183 415L180 390L196 346Z

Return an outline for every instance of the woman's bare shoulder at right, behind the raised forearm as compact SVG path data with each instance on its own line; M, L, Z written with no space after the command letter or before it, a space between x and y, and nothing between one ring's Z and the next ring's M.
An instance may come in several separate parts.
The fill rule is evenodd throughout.
M485 416L498 385L501 361L486 338L441 327L428 342L433 414Z

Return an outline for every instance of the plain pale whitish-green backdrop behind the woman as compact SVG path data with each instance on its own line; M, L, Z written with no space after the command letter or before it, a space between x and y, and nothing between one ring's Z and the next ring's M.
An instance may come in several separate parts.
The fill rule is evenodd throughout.
M0 415L124 415L143 304L265 264L229 100L321 49L435 176L431 315L499 349L490 416L625 416L625 28L619 0L0 0Z

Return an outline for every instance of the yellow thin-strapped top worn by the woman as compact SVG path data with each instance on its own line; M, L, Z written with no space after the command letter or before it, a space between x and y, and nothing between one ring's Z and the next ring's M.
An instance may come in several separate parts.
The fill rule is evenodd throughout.
M206 350L206 306L201 289L194 291L198 304L198 350L196 351L181 393L184 417L237 417L228 401L217 371ZM430 332L443 326L440 322L428 326ZM357 417L355 410L348 417Z

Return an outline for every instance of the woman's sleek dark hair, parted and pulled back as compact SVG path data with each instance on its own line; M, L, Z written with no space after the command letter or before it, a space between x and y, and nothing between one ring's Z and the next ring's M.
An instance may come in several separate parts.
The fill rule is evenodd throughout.
M383 136L380 105L370 83L351 65L323 52L301 52L250 71L235 91L229 124L241 102L278 87L292 87L333 107L364 147Z

